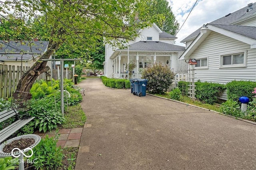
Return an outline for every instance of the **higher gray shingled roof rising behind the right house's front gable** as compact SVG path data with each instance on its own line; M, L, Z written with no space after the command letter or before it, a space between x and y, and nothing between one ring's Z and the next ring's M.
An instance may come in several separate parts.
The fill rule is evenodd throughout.
M230 25L231 23L235 22L236 20L239 20L239 19L247 17L247 16L251 16L252 14L254 14L256 12L256 3L254 3L252 5L252 10L246 13L247 9L248 9L248 6L242 8L240 10L237 10L236 12L233 12L230 15L226 15L226 16L219 18L213 22L210 22L209 24ZM195 32L193 32L192 34L190 34L189 36L184 38L181 42L186 42L187 40L190 40L190 39L198 36L198 34L200 34L200 29L201 28L199 28L198 30L196 30Z

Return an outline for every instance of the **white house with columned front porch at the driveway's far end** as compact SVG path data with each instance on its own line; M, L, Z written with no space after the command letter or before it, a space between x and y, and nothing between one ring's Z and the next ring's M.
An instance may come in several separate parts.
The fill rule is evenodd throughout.
M125 49L113 50L109 44L105 45L106 77L127 78L126 65L131 62L135 63L136 68L129 78L140 78L141 71L155 63L167 65L175 73L178 72L178 57L185 51L185 47L174 45L177 37L163 32L156 24L141 29L138 35L126 44ZM187 66L185 68L187 71Z

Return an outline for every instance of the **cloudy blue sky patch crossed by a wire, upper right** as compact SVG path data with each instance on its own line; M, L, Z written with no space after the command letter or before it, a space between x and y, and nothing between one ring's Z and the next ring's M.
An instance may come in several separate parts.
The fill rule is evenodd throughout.
M196 0L168 1L176 20L180 23L180 26L182 26ZM185 44L180 43L180 41L202 27L203 24L208 24L254 2L256 2L256 0L198 0L196 6L194 6L194 9L188 16L188 19L176 35L178 39L175 40L175 44L185 46Z

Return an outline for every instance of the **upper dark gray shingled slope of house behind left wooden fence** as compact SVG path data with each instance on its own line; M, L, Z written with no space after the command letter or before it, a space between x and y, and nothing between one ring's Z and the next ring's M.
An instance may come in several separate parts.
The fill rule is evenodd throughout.
M47 41L0 41L0 54L41 54L47 48Z

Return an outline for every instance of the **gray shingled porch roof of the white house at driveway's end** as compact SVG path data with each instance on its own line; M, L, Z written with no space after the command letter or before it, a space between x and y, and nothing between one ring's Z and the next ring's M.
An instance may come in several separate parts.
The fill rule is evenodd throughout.
M127 51L126 49L117 49L116 51ZM136 42L129 46L129 51L185 51L185 47L163 42Z

